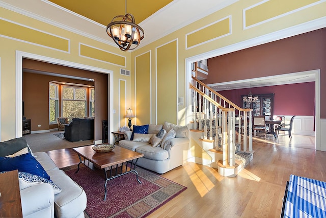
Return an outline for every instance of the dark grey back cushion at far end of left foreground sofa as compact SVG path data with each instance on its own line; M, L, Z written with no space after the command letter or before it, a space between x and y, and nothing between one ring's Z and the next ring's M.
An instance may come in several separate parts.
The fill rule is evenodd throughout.
M14 154L26 147L28 144L23 137L0 142L0 157Z

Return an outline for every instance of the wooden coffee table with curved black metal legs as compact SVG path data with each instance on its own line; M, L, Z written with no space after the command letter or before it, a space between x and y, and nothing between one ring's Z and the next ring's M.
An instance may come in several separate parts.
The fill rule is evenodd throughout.
M127 173L134 172L136 174L137 181L141 183L138 179L138 173L135 171L135 167L137 161L140 157L143 157L143 154L138 152L130 151L128 149L121 148L116 146L111 152L106 153L97 153L95 152L91 146L84 146L73 148L72 150L78 154L80 162L78 163L78 169L76 173L79 171L79 164L84 163L82 157L93 163L93 165L97 168L103 169L105 175L105 184L104 184L104 201L106 199L106 184L108 180L114 179L116 177L125 175ZM129 167L128 167L129 163ZM120 166L121 165L121 166ZM119 168L119 170L118 170ZM123 169L125 170L123 171ZM110 171L110 176L107 176L107 171Z

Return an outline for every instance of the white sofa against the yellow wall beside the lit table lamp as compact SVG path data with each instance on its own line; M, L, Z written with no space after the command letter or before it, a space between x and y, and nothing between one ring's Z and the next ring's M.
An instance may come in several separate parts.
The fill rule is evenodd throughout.
M169 131L172 129L175 132L175 136L169 139L163 137L158 146L153 146L154 143L151 138L153 135L156 136L161 129L166 131L166 135L169 135ZM164 125L148 125L147 133L134 133L133 140L130 140L132 131L125 132L125 139L119 141L118 146L144 154L144 157L138 160L137 165L163 174L182 165L186 161L189 147L187 134L187 126L177 126L165 122Z

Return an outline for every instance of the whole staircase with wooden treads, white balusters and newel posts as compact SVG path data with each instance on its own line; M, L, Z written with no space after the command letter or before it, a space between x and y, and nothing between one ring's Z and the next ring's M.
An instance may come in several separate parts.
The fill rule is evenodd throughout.
M238 107L198 80L198 71L208 71L199 66L193 65L189 84L193 119L189 125L192 148L188 161L218 168L220 175L233 177L253 159L252 109Z

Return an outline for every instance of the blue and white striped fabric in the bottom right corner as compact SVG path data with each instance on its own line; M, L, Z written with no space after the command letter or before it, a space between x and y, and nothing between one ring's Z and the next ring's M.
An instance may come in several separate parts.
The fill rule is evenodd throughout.
M326 217L326 183L291 175L284 217Z

